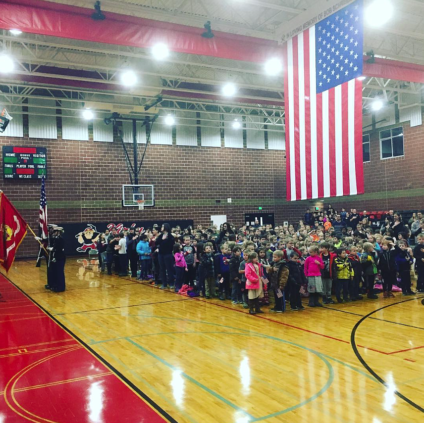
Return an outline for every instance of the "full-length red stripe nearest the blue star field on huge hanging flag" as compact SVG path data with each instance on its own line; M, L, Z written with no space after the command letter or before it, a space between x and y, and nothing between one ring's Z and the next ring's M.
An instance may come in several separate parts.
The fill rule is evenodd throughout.
M313 46L315 48L315 46ZM310 82L310 52L309 31L303 33L303 60L305 69L305 164L306 164L306 198L312 198L311 177L311 82Z

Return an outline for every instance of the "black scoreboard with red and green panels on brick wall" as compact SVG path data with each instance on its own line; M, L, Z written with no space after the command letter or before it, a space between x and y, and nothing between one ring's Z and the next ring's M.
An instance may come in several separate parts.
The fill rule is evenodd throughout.
M39 179L46 171L47 148L3 145L3 179Z

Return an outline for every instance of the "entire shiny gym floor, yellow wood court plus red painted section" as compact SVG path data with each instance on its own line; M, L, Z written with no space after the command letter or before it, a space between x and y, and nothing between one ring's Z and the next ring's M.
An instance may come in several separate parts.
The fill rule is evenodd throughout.
M422 295L250 316L87 266L2 278L0 422L423 422Z

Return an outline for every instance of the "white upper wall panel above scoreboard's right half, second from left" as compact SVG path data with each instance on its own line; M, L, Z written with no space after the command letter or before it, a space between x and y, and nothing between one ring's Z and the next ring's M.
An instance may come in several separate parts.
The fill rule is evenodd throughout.
M50 106L43 108L37 106ZM56 100L28 98L28 135L30 138L57 139Z

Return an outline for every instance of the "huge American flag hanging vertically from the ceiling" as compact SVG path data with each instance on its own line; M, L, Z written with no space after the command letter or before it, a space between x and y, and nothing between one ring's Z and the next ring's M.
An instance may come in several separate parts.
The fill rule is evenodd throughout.
M364 193L362 0L284 45L287 200Z

